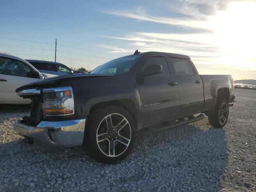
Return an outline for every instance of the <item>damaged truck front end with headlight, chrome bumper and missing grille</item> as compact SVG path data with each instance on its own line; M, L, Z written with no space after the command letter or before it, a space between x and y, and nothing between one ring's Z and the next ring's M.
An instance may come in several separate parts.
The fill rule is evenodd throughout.
M86 119L75 119L71 86L20 89L17 94L32 100L30 116L14 124L14 130L53 147L82 145Z

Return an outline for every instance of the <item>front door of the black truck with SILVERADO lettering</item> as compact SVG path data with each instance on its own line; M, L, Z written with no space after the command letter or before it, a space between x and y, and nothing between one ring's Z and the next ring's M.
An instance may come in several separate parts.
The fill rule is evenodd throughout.
M138 80L142 102L143 125L167 120L180 115L178 86L171 85L175 77L170 71L164 55L150 56L140 70L153 64L161 64L163 72Z

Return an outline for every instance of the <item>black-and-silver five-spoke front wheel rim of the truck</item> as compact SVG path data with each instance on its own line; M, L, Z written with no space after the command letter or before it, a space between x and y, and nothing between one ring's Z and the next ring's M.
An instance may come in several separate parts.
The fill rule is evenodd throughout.
M100 151L109 157L123 154L131 141L132 131L128 120L118 113L104 117L98 128L96 140Z

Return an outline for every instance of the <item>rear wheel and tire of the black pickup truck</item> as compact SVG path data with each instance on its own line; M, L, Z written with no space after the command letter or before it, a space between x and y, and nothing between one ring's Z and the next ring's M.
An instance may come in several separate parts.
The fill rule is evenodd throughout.
M222 128L228 121L228 103L224 99L217 99L214 113L208 115L208 121L211 126L216 128Z

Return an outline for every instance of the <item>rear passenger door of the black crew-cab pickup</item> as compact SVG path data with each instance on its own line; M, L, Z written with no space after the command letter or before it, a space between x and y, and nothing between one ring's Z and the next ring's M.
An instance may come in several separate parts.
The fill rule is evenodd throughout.
M169 67L176 77L180 95L180 115L200 112L204 106L201 77L188 58L169 56Z

